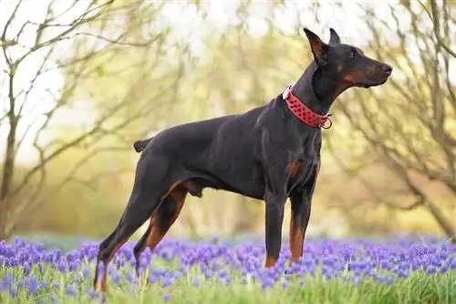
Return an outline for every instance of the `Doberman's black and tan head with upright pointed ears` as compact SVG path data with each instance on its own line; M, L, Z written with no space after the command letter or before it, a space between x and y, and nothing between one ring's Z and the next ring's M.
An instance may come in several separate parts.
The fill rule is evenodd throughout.
M340 37L330 28L329 43L324 43L315 33L304 28L316 64L331 79L347 89L369 88L384 84L392 68L383 62L368 58L358 47L340 43Z

